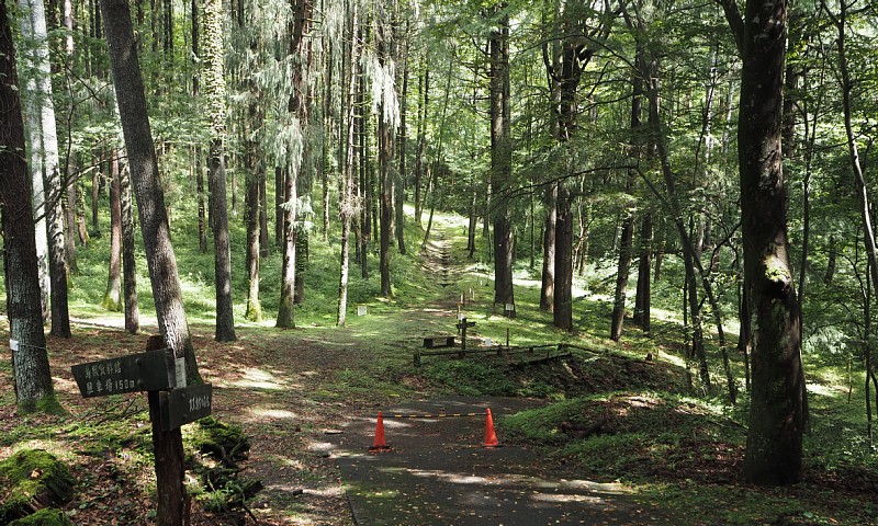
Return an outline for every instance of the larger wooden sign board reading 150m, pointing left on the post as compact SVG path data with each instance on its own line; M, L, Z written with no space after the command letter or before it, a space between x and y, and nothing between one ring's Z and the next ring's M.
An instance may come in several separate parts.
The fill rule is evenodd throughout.
M168 348L72 366L83 398L159 391L177 385L173 352Z

